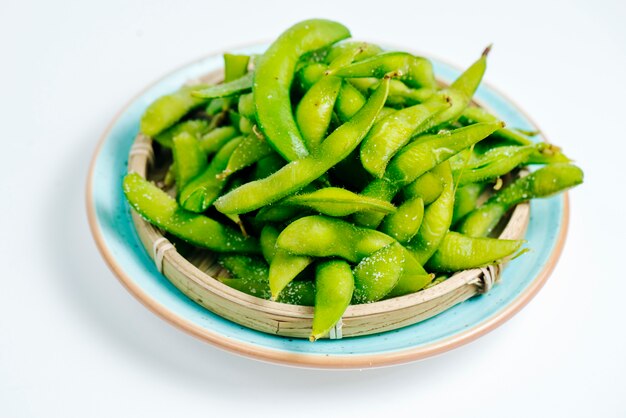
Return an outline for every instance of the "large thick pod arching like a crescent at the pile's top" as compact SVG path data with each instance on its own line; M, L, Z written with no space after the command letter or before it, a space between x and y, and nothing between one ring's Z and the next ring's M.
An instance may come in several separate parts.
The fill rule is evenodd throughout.
M253 88L256 119L276 152L288 161L309 154L291 110L289 94L296 63L305 53L349 36L350 31L339 23L306 20L281 34L257 63Z

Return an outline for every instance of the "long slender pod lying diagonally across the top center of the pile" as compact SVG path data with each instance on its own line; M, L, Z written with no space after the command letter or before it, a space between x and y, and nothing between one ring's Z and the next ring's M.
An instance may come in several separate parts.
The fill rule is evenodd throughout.
M215 202L217 210L223 213L250 212L288 196L319 178L359 145L382 109L388 89L389 83L382 83L350 121L326 138L316 154L293 161L265 179L244 184L225 194Z

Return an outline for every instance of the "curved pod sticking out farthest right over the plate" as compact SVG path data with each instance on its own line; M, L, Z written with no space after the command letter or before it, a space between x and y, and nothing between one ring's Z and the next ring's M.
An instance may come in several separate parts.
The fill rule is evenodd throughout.
M583 182L583 172L573 164L550 164L519 178L495 193L481 207L471 212L459 228L470 237L485 237L502 216L518 203L548 197Z

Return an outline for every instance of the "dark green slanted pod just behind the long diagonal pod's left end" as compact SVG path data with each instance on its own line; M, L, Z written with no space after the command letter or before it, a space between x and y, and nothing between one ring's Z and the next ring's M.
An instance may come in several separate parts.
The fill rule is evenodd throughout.
M215 202L227 181L227 178L218 175L224 171L231 154L242 140L241 137L231 139L215 154L204 172L181 190L178 200L183 208L200 213Z

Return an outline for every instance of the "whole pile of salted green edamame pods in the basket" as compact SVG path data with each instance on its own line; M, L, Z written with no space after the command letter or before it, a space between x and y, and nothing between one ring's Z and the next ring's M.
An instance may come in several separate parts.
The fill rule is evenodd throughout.
M349 37L307 20L261 56L225 54L223 83L182 87L141 119L176 197L123 182L146 220L218 253L224 283L313 305L312 341L350 304L519 254L523 241L490 237L505 214L583 180L560 148L472 104L489 48L440 86L426 58Z

